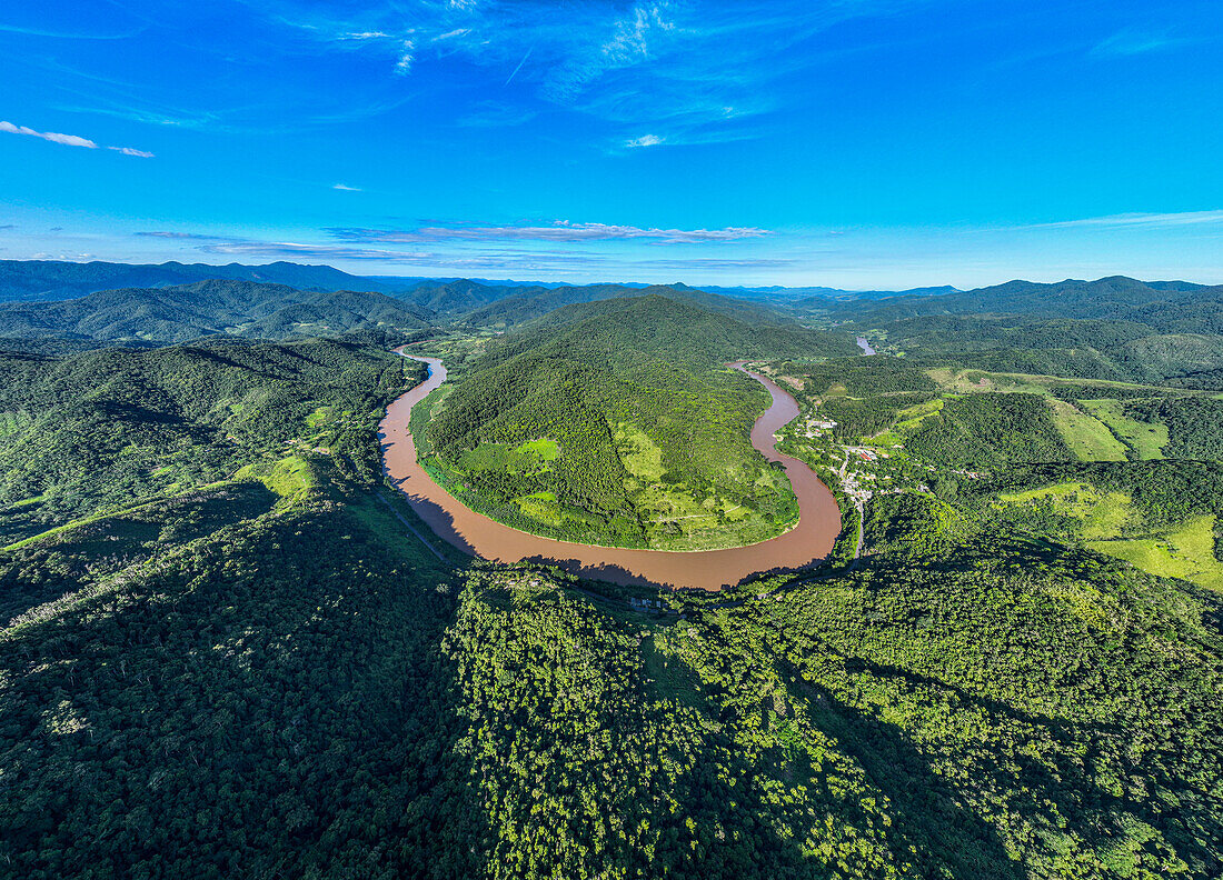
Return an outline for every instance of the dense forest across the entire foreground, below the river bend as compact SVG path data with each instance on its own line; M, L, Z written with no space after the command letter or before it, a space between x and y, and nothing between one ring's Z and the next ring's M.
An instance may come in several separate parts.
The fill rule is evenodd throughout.
M453 573L318 467L325 488L256 499L10 623L5 870L1221 868L1205 596L965 515L879 508L892 538L867 566L642 615L547 572Z

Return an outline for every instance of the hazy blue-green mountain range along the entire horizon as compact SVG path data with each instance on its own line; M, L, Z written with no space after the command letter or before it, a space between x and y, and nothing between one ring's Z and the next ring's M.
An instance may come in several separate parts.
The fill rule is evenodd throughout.
M196 277L218 274L229 277ZM830 324L839 335L877 332L887 350L927 363L1223 389L1223 286L1124 276L889 293L363 279L294 263L10 260L0 262L0 347L51 353L220 335L287 340L426 328L514 330L587 312L614 320L619 307L593 307L656 295L773 332L799 321Z

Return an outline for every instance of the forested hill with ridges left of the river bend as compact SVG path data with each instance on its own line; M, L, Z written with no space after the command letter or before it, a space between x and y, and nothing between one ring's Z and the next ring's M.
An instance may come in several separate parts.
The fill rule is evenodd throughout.
M382 346L329 340L0 354L0 507L24 504L13 522L55 524L221 479L307 427L352 428L400 375ZM334 444L351 438L335 431Z

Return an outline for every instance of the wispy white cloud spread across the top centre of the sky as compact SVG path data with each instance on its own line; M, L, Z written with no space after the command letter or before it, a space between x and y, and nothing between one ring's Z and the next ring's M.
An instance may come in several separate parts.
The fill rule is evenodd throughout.
M272 0L272 17L320 51L384 57L393 73L459 59L456 89L481 76L484 95L494 82L514 87L521 112L459 114L460 123L514 125L553 105L621 127L610 134L619 152L643 127L669 145L764 137L752 120L780 100L772 83L828 55L793 51L801 42L849 20L937 1L583 0L558 9L554 0L416 0L340 16L305 0Z

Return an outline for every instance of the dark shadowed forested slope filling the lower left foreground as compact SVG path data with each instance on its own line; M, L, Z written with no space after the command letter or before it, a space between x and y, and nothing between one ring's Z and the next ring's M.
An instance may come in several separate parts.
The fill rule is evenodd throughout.
M0 644L0 874L479 873L453 574L385 544L284 513Z

